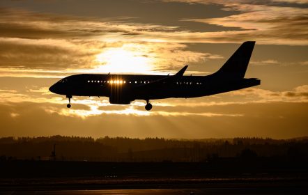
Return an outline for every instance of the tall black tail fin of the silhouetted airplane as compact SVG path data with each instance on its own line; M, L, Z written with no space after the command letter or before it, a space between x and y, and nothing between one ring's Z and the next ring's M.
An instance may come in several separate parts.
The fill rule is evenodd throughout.
M244 78L252 50L254 50L254 44L255 41L243 42L222 68L215 72L215 75L232 79Z

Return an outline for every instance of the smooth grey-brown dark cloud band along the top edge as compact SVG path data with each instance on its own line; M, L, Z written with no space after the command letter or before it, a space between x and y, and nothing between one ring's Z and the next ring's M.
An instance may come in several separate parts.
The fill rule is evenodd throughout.
M1 5L1 4L0 4ZM114 18L121 17L125 22L140 24L158 24L178 26L181 30L190 31L223 31L223 26L184 22L182 19L224 17L237 13L222 10L221 5L187 4L163 1L24 1L23 3L6 1L6 7L24 8L36 13L54 13L75 15L77 17ZM236 29L236 28L230 28Z

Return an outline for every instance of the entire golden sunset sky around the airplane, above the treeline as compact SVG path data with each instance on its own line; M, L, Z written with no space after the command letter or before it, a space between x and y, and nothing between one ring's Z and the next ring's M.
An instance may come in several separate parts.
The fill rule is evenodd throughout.
M210 75L247 40L253 88L151 111L48 91L79 73ZM307 0L0 1L0 137L304 137L307 76Z

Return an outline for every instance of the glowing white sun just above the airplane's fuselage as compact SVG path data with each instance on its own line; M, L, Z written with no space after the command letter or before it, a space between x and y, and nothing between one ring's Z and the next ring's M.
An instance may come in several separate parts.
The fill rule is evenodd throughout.
M96 61L99 72L148 74L153 69L153 58L135 47L111 47L98 54Z

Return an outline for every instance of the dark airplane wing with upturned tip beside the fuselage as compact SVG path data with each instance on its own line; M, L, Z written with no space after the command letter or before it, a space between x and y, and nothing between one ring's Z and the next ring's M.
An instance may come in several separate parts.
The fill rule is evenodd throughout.
M180 77L183 77L185 70L187 69L188 65L185 65L180 71L176 73L176 75L171 75L164 77L162 79L157 79L155 81L151 81L148 84L141 84L139 86L136 86L137 89L147 89L147 88L156 88L158 86L161 86L162 84L169 83L172 81L176 81Z

